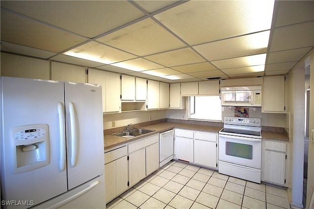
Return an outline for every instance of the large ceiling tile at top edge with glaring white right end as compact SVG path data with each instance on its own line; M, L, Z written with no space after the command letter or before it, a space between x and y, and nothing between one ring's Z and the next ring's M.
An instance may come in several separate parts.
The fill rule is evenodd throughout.
M274 2L188 1L154 17L189 45L268 30Z

